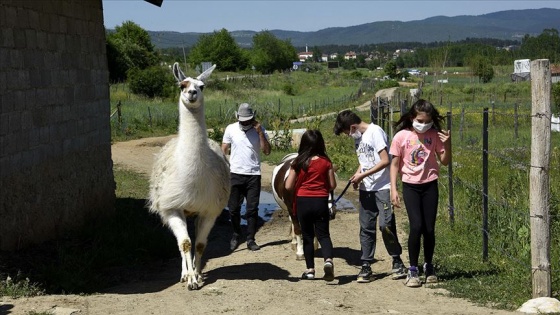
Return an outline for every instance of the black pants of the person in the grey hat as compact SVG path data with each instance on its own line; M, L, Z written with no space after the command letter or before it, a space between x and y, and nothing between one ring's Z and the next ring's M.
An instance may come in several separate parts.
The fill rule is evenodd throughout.
M231 194L228 209L233 233L241 235L241 205L247 199L247 241L255 240L257 219L259 218L259 198L261 196L261 175L241 175L231 173Z

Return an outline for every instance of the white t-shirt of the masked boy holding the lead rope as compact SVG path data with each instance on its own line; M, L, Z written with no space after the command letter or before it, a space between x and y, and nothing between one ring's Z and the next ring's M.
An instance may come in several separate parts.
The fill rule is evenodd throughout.
M360 162L360 171L366 172L381 161L379 152L389 149L387 134L376 124L370 124L359 140L356 140L356 154ZM360 190L378 191L391 188L389 166L365 177L360 183Z

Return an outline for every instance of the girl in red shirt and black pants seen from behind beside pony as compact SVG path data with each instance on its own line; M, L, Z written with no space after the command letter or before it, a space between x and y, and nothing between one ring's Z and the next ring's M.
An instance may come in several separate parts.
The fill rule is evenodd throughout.
M307 130L301 137L298 156L292 162L286 189L295 191L294 211L303 238L303 254L307 270L302 279L315 278L313 239L317 237L323 253L326 281L334 280L333 245L329 232L330 191L336 188L331 160L319 130Z

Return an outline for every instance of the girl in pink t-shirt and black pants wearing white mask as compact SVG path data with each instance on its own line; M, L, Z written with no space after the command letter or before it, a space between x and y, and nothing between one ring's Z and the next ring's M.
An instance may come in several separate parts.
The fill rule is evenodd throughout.
M438 208L439 162L449 163L451 157L450 131L441 130L444 117L432 103L420 99L395 123L397 133L391 142L392 157L391 203L400 208L397 175L402 181L403 200L408 214L410 231L408 255L410 268L405 284L422 285L418 277L420 242L424 244L424 275L426 283L437 282L432 258L434 256L435 223Z

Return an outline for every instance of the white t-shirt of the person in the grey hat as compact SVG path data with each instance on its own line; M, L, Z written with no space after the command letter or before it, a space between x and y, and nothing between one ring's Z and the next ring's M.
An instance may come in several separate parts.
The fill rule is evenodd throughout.
M268 135L261 126L264 136ZM261 142L255 128L247 132L241 130L239 122L226 127L222 143L231 145L229 156L229 168L232 173L242 175L261 174Z

